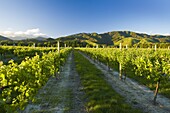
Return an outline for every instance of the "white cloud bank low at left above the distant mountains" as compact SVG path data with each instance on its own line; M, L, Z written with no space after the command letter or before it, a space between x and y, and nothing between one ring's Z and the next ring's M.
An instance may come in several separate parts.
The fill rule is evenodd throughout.
M38 36L48 37L46 34L41 33L39 28L28 29L26 31L0 31L0 35L9 37L14 40L26 39L26 38L35 38Z

